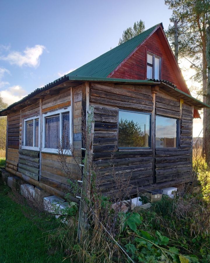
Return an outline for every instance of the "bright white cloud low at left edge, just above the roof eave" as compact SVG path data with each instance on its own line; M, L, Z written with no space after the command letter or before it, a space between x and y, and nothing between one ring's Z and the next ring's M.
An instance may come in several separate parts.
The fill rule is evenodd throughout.
M10 105L26 96L27 91L25 91L21 86L15 85L0 91L0 95L3 98L3 101Z

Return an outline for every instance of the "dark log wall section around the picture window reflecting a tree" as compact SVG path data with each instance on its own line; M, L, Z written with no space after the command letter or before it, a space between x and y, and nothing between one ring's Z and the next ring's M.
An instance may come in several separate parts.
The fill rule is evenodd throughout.
M115 166L116 176L122 177L124 181L131 176L129 184L135 186L152 184L152 149L118 151L117 145L119 109L151 113L153 110L151 87L92 84L90 105L94 106L93 152L94 164L99 168L101 192L111 194L118 191L112 174L112 165ZM130 185L127 187L129 188ZM136 187L131 190L131 193L136 193Z

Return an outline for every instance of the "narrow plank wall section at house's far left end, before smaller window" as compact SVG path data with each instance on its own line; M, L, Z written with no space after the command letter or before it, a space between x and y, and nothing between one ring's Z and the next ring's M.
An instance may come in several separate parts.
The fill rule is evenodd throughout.
M18 149L19 149L19 134L20 134L20 110L15 110L7 115L7 155L6 155L6 170L9 172L17 171L18 166Z

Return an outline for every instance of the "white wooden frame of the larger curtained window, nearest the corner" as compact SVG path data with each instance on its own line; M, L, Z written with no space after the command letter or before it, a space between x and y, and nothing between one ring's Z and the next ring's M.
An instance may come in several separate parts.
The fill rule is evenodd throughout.
M71 106L65 109L50 111L48 113L43 113L43 120L42 120L42 152L47 153L58 153L58 149L54 148L45 148L45 118L50 117L56 114L60 115L60 140L62 139L62 113L69 112L69 143L72 144L72 114L71 114Z

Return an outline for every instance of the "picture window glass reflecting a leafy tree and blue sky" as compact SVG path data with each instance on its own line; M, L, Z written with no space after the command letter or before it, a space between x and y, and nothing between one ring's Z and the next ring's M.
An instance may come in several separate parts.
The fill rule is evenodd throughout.
M119 111L118 147L149 147L150 115Z

